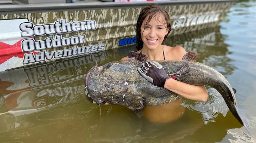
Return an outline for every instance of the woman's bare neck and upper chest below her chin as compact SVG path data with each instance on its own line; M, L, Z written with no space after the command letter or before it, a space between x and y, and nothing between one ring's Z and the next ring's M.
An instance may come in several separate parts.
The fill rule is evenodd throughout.
M164 59L162 46L156 47L155 49L149 49L143 46L141 52L148 57L148 61Z

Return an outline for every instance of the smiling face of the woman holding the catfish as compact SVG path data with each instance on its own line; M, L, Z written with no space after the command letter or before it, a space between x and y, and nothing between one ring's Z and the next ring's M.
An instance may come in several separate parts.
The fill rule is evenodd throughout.
M168 33L168 29L165 27L165 19L161 13L153 16L148 25L146 25L148 18L149 16L144 19L142 26L140 27L140 34L144 43L143 47L155 49L156 47L162 46L162 41L164 40L165 35Z

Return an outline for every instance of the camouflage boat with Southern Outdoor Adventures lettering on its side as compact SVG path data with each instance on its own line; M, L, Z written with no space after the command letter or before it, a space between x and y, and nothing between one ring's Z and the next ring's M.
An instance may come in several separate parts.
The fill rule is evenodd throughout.
M174 36L215 27L236 3L236 0L31 1L0 5L0 72L134 45L139 12L148 4L165 6L172 25L169 36Z

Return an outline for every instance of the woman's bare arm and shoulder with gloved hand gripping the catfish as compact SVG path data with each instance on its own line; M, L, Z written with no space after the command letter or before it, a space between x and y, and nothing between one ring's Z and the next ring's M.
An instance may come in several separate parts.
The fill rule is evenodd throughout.
M171 51L169 51L169 53L172 54L172 58L177 60L181 60L183 56L187 53L183 49L183 47L180 46L170 49ZM151 65L150 67L149 64ZM151 83L161 87L165 87L168 90L175 92L184 98L202 102L206 102L208 99L208 91L204 86L190 85L170 78L170 76L166 74L162 66L155 61L145 62L145 64L142 64L141 68L138 68L138 71L145 79L147 79Z

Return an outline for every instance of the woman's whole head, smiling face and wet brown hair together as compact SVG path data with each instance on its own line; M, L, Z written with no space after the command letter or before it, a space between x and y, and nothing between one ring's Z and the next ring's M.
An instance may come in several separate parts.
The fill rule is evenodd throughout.
M146 6L137 21L137 50L161 49L170 31L170 17L165 8L158 4Z

